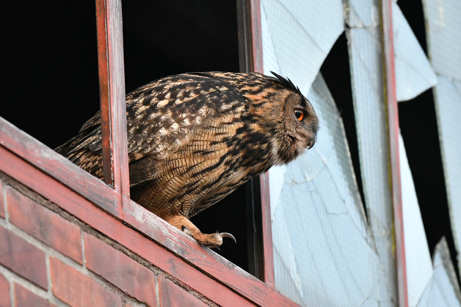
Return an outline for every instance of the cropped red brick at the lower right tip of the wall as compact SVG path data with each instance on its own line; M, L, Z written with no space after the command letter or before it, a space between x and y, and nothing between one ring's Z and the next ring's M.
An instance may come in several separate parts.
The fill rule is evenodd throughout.
M162 275L159 276L159 295L160 307L209 307Z

